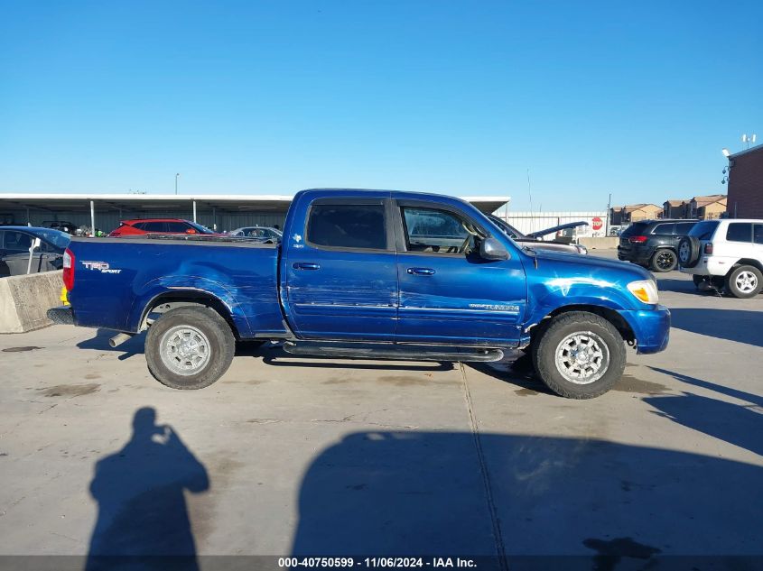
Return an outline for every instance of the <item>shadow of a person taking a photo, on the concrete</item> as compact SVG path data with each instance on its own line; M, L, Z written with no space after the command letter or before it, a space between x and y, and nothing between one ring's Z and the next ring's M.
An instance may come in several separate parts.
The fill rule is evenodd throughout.
M86 571L199 569L185 492L209 490L207 470L156 411L135 411L125 447L98 460L90 493L98 520Z

